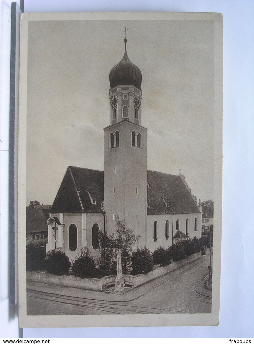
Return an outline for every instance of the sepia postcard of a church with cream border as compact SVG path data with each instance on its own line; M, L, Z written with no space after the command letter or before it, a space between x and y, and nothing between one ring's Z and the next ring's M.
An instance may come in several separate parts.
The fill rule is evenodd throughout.
M25 13L20 51L20 326L217 325L222 16Z

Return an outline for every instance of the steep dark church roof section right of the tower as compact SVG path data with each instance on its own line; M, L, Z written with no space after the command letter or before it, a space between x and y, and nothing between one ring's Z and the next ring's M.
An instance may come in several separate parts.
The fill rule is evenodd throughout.
M147 214L200 213L178 175L147 171Z

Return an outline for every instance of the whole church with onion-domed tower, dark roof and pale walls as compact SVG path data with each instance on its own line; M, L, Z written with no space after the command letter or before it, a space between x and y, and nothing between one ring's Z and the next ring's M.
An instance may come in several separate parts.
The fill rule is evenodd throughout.
M69 166L47 220L47 251L70 259L81 250L99 256L99 230L116 232L115 219L154 251L201 237L201 205L185 177L147 170L147 128L142 120L142 75L125 53L109 73L110 125L104 128L104 171Z

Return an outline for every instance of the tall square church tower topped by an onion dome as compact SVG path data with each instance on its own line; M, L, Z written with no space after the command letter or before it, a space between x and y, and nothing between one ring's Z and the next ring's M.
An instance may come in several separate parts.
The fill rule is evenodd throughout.
M140 69L125 53L109 73L110 126L104 129L104 208L106 230L116 232L115 218L140 235L146 245L147 129L141 126Z

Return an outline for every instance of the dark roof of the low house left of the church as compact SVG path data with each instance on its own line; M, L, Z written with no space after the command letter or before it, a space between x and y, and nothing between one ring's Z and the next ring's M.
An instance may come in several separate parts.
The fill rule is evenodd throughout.
M47 231L47 219L49 209L27 208L27 233L39 233Z

